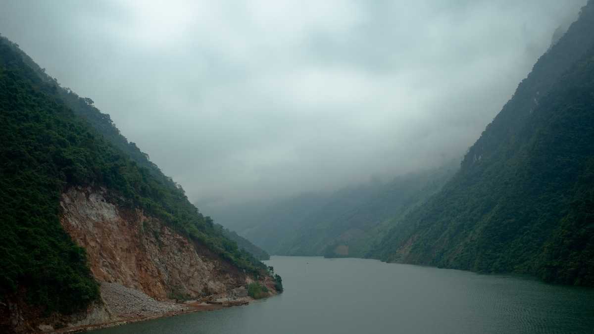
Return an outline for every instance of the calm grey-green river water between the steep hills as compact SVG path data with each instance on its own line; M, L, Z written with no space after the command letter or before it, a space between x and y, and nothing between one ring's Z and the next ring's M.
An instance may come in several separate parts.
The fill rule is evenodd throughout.
M594 289L376 260L266 263L283 294L91 333L594 333Z

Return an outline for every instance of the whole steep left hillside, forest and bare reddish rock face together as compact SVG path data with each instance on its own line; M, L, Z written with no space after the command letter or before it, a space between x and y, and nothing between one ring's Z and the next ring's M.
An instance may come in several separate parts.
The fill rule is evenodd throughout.
M143 163L130 157L140 152L134 144L126 141L128 150L113 144L65 96L74 94L0 37L2 331L117 316L103 303L102 282L165 300L230 293L258 277L270 281L267 267L201 215L179 185L146 156ZM109 116L95 116L121 136ZM87 205L92 198L99 201ZM110 248L113 238L129 246L118 241ZM128 251L118 253L123 247ZM187 268L175 254L202 264Z

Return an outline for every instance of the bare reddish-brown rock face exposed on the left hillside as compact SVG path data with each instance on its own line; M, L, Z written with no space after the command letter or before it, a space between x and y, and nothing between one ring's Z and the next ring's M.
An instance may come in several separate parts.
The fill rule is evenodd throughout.
M61 206L62 225L86 248L97 281L156 300L223 295L245 285L244 273L141 210L110 203L105 189L70 188Z

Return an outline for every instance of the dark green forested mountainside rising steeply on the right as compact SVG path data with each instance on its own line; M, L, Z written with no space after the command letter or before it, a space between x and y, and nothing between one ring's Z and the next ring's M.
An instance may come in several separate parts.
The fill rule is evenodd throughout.
M594 285L594 2L536 62L387 261Z

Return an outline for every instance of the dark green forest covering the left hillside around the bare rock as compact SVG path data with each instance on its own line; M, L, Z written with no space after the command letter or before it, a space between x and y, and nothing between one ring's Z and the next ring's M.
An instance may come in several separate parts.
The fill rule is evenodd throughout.
M30 303L69 313L99 296L84 250L59 223L60 194L72 185L107 187L121 206L143 208L246 272L267 272L92 104L0 36L0 299L23 289Z

